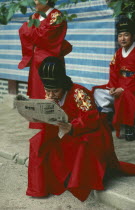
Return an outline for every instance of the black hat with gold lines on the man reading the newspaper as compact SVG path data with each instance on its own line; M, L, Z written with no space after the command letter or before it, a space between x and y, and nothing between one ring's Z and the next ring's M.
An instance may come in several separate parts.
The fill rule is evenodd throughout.
M39 67L39 76L48 89L63 88L69 90L71 88L71 78L66 75L63 62L57 57L45 58Z

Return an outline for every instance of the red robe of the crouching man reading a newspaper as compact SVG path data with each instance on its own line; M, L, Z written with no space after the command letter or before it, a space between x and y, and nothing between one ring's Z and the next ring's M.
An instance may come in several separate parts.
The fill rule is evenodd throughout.
M111 132L101 122L90 91L74 84L62 109L73 132L60 139L58 127L45 124L30 139L27 195L60 195L69 190L84 201L92 189L104 189L108 169L135 175L135 165L118 162Z

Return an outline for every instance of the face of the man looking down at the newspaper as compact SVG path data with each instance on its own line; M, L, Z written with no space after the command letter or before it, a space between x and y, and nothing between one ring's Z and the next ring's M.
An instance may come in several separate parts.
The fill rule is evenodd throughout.
M46 98L52 99L52 100L60 100L64 95L63 88L57 88L57 89L48 89L45 88Z

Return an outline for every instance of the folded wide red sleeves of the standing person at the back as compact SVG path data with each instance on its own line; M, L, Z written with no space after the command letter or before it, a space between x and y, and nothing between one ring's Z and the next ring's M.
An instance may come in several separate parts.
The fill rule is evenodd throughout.
M47 56L63 57L72 51L72 45L64 40L67 32L67 22L57 24L57 18L62 14L54 9L41 21L40 26L28 27L25 22L19 29L22 45L22 61L18 68L29 66L33 53L38 62Z

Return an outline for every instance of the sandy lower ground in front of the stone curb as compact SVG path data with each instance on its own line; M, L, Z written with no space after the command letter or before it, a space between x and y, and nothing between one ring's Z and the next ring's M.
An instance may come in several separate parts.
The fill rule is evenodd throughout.
M25 195L27 167L0 157L0 210L114 210L96 201L92 195L80 202L69 192L48 198Z

